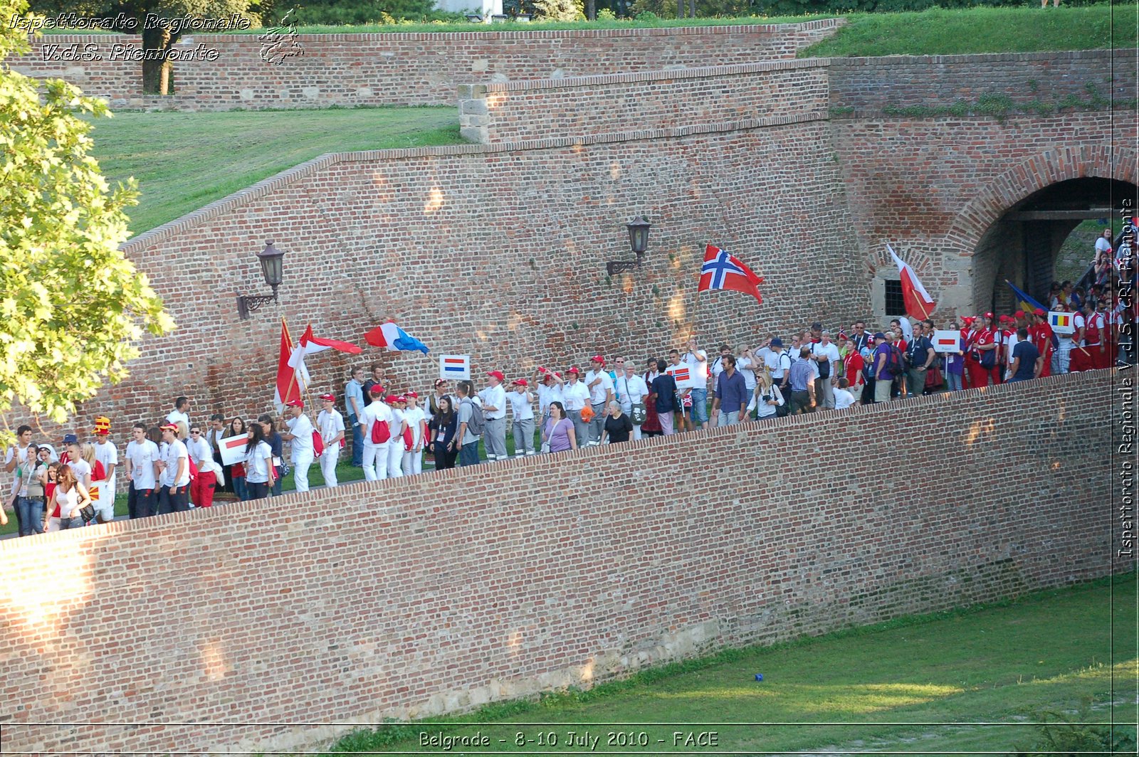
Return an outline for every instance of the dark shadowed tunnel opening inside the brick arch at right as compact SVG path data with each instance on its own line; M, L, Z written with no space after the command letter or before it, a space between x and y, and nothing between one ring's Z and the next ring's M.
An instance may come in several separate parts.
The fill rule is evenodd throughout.
M1101 178L1059 181L1019 200L989 228L974 249L974 304L994 313L1016 310L1007 279L1047 305L1049 286L1056 280L1057 254L1072 231L1084 221L1106 220L1114 238L1122 227L1121 212L1134 208L1137 201L1139 188L1134 184ZM1089 246L1084 266L1091 260Z

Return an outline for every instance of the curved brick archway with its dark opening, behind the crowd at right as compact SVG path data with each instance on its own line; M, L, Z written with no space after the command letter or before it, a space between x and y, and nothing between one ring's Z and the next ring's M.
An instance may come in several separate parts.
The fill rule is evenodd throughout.
M945 236L947 256L956 252L967 261L961 283L969 282L969 302L958 306L972 312L1007 308L1013 298L1000 286L1005 279L1043 296L1056 253L1080 223L1080 208L1112 209L1117 219L1123 198L1130 197L1134 207L1139 199L1137 159L1134 150L1112 150L1106 145L1057 148L990 182L958 214ZM1073 206L1071 217L1064 215L1066 204ZM1052 217L1036 222L1033 213Z

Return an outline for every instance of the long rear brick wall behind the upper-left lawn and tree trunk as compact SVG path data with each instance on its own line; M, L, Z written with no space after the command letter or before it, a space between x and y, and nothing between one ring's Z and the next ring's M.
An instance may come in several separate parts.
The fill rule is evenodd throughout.
M137 36L51 35L9 60L16 71L60 76L114 107L230 110L331 105L444 105L459 84L693 68L793 58L844 22L550 32L301 34L304 55L280 65L261 59L255 34L197 34L179 49L216 49L214 61L175 64L177 94L144 97L141 64L112 59L113 44ZM46 44L88 44L101 60L48 61Z

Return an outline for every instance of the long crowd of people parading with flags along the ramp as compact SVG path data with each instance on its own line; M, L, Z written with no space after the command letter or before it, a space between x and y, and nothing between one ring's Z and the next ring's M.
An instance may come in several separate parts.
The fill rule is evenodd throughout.
M293 401L284 418L213 414L202 425L191 421L189 398L178 397L159 425L134 425L122 455L106 417L96 419L92 438L68 434L59 450L33 442L31 427L21 426L5 459L13 475L8 504L26 536L113 519L120 475L130 518L208 508L219 491L237 500L280 495L286 444L296 491L305 492L318 458L325 485L337 486L342 450L366 480L378 480L420 474L425 458L436 470L478 464L480 444L489 462L506 460L508 428L513 456L525 456L1109 368L1124 359L1124 326L1139 321L1134 304L1112 299L1121 280L1134 283L1126 252L1121 258L1109 247L1097 250L1097 261L1112 261L1106 286L1052 287L1050 307L1071 312L1071 334L1054 332L1043 308L940 328L929 319L895 319L875 332L857 321L837 335L816 322L786 345L770 335L755 347L721 344L710 355L690 339L645 361L595 355L584 371L538 367L509 382L490 371L477 392L469 380L439 379L423 401L413 390L393 392L375 363L367 378L363 367L352 369L343 413L336 395L322 394L316 419ZM956 344L945 345L947 332ZM1124 343L1133 361L1134 340ZM222 441L235 437L236 460L222 451Z

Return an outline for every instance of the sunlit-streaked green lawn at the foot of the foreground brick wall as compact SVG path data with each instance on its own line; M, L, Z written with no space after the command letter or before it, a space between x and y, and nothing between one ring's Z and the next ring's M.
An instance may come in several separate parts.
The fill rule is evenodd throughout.
M1033 747L1039 738L1033 723L1050 717L1046 713L1095 722L1114 718L1123 724L1118 732L1133 739L1134 655L1136 574L1130 574L1114 582L1114 607L1111 584L1103 579L1002 606L729 650L587 692L364 730L333 749L416 754L420 731L442 730L490 737L493 746L484 751L541 752L534 743L516 747L516 734L552 732L565 746L571 731L614 731L636 738L645 733L648 746L634 749L638 754L685 750L674 743L674 732L715 732L720 754L1000 754ZM755 681L756 673L763 674L762 682ZM1089 709L1081 714L1084 703ZM673 725L680 723L702 725ZM597 749L621 750L604 740Z

